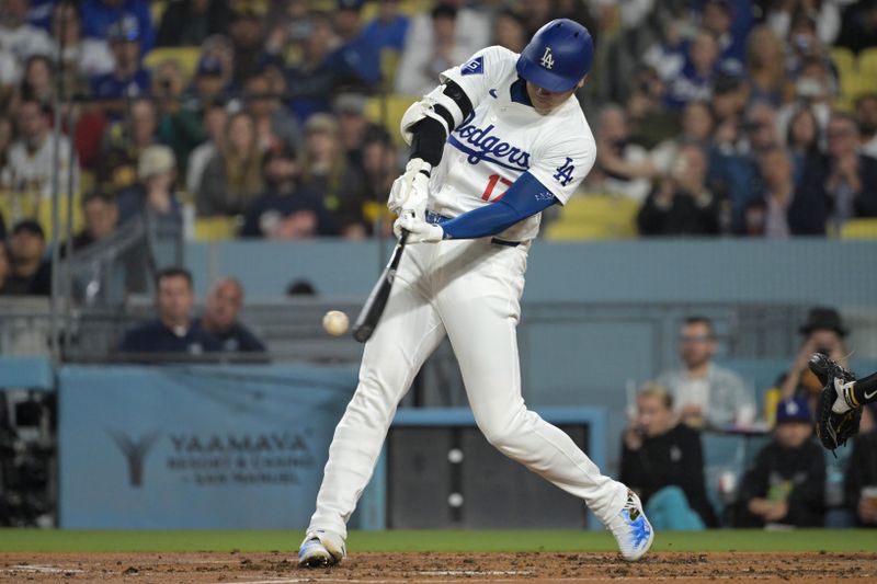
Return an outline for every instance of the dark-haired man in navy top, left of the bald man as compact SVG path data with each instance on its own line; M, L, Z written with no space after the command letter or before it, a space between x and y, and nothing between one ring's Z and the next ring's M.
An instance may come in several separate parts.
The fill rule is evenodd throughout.
M219 341L192 319L192 274L169 267L156 277L158 318L130 329L122 339L122 353L189 353L221 351Z

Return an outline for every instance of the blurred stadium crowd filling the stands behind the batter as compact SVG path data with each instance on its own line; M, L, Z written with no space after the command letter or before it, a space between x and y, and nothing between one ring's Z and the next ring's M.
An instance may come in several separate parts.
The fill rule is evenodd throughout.
M386 234L405 106L557 16L597 41L579 95L597 161L573 206L605 222L586 209L616 202L610 236L877 217L874 0L8 0L0 225L54 237L57 165L77 227L100 198L175 237ZM586 237L551 211L548 237Z

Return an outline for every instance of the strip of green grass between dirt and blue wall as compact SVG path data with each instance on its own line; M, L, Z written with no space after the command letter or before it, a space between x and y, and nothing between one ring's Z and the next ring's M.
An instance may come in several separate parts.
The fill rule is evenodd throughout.
M300 531L78 531L0 529L0 551L289 551ZM608 533L593 531L354 531L353 551L615 551ZM660 533L658 551L868 551L874 530L715 530Z

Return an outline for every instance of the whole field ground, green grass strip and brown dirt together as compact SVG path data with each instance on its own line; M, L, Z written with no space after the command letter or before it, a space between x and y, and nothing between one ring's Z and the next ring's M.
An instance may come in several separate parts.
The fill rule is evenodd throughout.
M296 543L291 543L296 536L288 531L1 530L0 582L877 583L874 530L659 534L654 551L637 563L620 560L607 534L360 533L351 537L353 552L348 560L318 570L296 565ZM235 540L240 546L228 548Z

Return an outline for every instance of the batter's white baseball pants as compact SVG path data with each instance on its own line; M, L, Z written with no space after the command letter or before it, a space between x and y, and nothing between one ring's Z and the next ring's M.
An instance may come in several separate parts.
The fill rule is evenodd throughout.
M384 316L365 345L360 385L335 428L309 531L346 537L396 408L445 334L490 444L584 500L603 523L620 511L626 486L601 474L566 433L524 404L515 328L526 260L527 245L489 239L406 248Z

